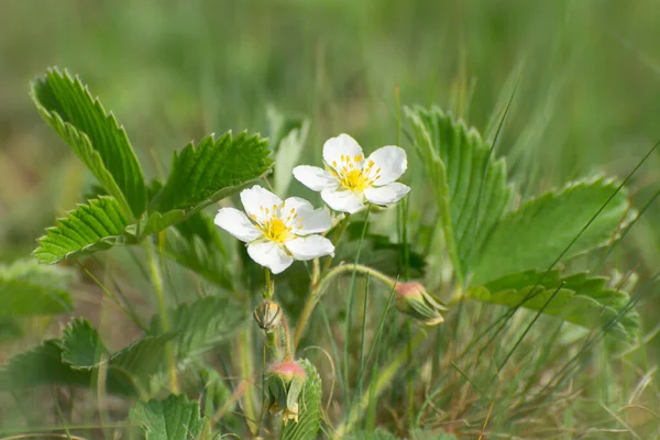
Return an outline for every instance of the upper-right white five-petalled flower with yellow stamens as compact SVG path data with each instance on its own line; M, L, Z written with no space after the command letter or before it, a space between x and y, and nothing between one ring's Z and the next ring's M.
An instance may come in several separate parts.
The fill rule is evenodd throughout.
M348 134L331 138L323 144L327 169L301 165L294 176L315 191L336 211L358 212L365 202L389 205L402 199L410 187L394 182L408 166L406 151L388 145L366 160L362 148Z

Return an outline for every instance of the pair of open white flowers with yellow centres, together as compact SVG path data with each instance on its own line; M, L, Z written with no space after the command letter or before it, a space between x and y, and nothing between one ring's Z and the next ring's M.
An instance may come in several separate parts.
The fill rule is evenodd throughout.
M362 147L348 134L323 144L326 169L297 166L294 176L305 186L321 193L336 211L354 213L366 204L386 206L402 199L410 188L395 182L408 166L406 152L383 146L364 158ZM258 185L241 193L245 213L222 208L216 224L248 243L248 254L274 274L295 260L308 261L333 255L332 242L320 235L331 227L328 208L315 209L299 197L282 200Z

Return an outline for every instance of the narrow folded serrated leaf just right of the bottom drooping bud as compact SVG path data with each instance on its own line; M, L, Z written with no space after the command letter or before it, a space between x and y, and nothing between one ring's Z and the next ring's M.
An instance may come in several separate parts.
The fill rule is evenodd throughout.
M289 421L279 436L280 440L311 440L316 439L321 427L321 377L316 367L308 360L300 361L307 377L302 385L302 393L298 399L298 422Z

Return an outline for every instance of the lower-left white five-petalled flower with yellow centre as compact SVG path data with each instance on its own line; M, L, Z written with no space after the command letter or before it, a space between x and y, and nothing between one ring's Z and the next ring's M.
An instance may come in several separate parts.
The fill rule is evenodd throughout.
M314 209L299 197L285 201L258 185L241 191L248 216L234 208L222 208L216 224L248 243L248 254L262 266L278 274L294 260L332 255L334 246L324 237L330 229L328 208Z

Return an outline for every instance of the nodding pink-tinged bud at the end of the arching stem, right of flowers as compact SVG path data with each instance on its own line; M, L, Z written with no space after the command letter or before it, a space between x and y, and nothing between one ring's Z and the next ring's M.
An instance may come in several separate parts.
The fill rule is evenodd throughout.
M396 308L415 318L422 326L437 326L444 321L442 312L448 310L417 282L398 283Z

